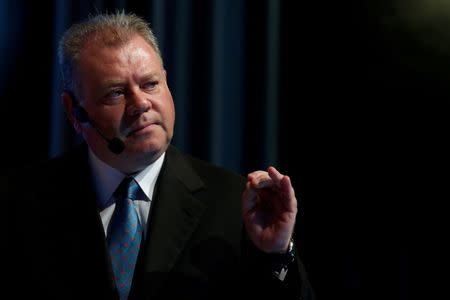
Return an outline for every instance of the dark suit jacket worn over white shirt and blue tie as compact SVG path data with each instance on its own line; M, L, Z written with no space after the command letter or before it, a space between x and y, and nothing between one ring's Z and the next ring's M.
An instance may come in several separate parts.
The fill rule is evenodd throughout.
M117 293L83 145L9 176L6 220L11 299L116 299ZM245 179L169 147L152 201L132 299L309 299L298 260L288 279L245 236ZM6 191L5 191L6 189ZM3 260L3 258L2 258ZM2 298L0 296L0 298ZM3 298L2 298L3 299Z

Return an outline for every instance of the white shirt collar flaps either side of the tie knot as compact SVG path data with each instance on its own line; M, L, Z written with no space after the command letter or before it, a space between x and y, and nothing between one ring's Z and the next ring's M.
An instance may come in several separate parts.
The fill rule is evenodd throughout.
M152 199L156 179L161 171L165 155L166 153L164 152L144 170L133 175L149 200ZM89 164L91 166L92 178L97 193L97 205L100 209L104 209L112 204L112 194L117 186L119 186L120 182L126 177L126 174L123 174L100 160L91 149L89 149Z

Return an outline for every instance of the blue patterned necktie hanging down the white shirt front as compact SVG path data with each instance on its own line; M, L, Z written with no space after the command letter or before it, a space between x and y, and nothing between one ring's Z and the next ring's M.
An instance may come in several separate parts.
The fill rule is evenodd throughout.
M121 300L128 298L142 239L142 225L133 204L140 194L142 191L132 177L126 177L115 191L116 207L107 243Z

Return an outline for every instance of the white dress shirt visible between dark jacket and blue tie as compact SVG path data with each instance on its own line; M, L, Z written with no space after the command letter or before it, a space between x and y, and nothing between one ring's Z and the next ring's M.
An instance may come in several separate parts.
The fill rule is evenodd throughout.
M164 156L165 153L163 153L155 162L147 166L144 170L133 175L133 178L148 198L133 201L138 212L139 221L141 222L144 230L144 238L147 234L147 222L150 213L153 191L155 189L156 179L158 178L164 162ZM111 221L114 208L116 207L113 193L127 175L104 163L97 156L95 156L90 149L89 163L97 194L97 206L99 207L100 217L102 219L103 229L105 230L106 236L108 234L109 222Z

